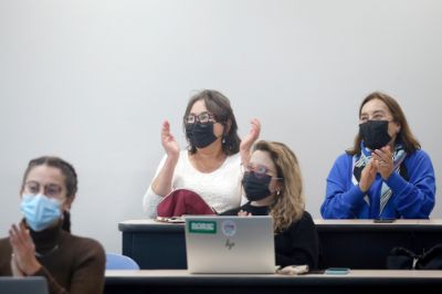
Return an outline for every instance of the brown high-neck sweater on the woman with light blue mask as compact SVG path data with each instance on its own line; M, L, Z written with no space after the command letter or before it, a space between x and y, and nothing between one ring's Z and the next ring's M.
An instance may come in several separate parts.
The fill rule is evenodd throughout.
M51 294L103 293L106 258L97 241L72 235L61 225L41 232L31 230L31 235L42 264L35 275L46 277ZM11 253L9 238L0 239L0 275L12 275Z

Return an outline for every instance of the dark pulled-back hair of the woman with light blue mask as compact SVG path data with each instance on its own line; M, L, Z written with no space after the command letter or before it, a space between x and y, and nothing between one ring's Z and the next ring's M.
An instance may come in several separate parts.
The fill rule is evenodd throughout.
M28 164L28 168L24 171L23 175L23 180L21 183L21 190L20 192L22 193L24 190L24 183L27 181L29 172L36 166L49 166L49 167L54 167L61 170L61 172L64 176L64 185L66 186L66 197L73 200L73 198L76 195L77 191L77 186L78 186L78 180L77 176L75 172L74 167L55 156L42 156L39 158L34 158ZM71 232L71 214L69 211L63 211L63 230Z

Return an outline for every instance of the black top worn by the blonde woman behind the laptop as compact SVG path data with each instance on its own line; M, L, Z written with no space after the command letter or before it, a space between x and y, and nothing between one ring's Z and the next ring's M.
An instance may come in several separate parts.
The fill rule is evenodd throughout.
M269 214L269 207L254 207L251 202L221 214L238 216L240 210L252 216ZM281 266L308 264L311 270L318 267L319 241L315 223L307 211L298 221L275 235L275 253L276 264Z

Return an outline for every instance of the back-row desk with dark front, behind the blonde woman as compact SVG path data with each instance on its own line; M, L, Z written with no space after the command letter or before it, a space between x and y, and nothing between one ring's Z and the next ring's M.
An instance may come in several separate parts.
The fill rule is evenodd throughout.
M394 246L422 253L442 243L442 220L315 220L323 252L323 267L385 269ZM187 269L185 227L154 220L118 224L123 254L141 269Z

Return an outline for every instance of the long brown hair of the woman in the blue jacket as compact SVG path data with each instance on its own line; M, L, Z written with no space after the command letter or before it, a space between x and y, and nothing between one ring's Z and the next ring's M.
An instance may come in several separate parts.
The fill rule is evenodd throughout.
M402 108L399 106L399 103L393 97L391 97L385 93L381 93L381 92L371 93L360 104L359 117L360 117L360 113L362 111L364 105L366 105L369 101L372 101L372 99L380 99L381 102L383 102L387 105L388 109L390 111L391 115L393 116L393 122L400 125L400 130L396 138L396 141L400 141L401 144L403 144L403 148L408 154L412 154L415 150L419 150L421 148L421 145L418 141L418 139L414 137L414 135L411 133L411 129L407 122L406 115L403 114ZM346 150L346 153L349 155L360 154L360 141L361 140L362 140L362 137L358 133L355 137L352 148Z

